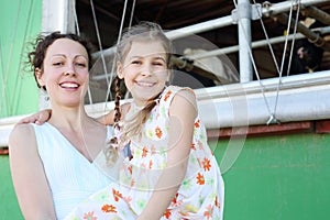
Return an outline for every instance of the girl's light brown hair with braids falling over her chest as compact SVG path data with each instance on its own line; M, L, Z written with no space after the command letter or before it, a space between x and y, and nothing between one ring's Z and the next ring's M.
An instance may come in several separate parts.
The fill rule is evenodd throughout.
M131 45L133 42L150 42L150 41L157 41L160 42L166 52L166 65L167 68L170 69L170 55L174 53L172 42L167 38L165 35L163 29L153 22L141 22L138 25L131 26L127 29L119 41L117 45L117 54L116 58L118 62L123 63L128 53L131 50ZM161 96L157 95L150 99L146 103L146 106L139 111L132 119L130 119L130 122L123 123L120 125L121 120L121 109L120 109L120 99L121 99L121 90L120 85L121 80L118 76L116 78L116 98L114 98L114 128L118 130L121 130L121 139L118 140L111 140L112 143L116 142L117 145L122 146L123 143L127 143L127 141L133 136L138 135L141 132L142 125L147 120L152 109L156 106L157 100ZM113 148L113 147L110 147ZM117 155L117 154L116 154Z

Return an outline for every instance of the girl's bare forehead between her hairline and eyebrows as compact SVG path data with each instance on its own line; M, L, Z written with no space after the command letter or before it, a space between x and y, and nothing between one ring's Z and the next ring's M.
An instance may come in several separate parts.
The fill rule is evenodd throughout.
M162 42L160 41L138 41L132 42L128 56L164 56L166 57L166 51Z

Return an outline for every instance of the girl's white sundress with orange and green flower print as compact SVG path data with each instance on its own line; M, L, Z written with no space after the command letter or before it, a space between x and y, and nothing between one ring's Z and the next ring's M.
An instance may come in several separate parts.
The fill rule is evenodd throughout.
M168 109L182 87L166 87L143 125L140 136L130 140L132 157L118 166L116 183L82 201L67 219L136 219L145 208L162 170L166 167ZM193 92L193 90L191 90ZM139 111L130 105L125 119ZM217 161L207 144L199 117L195 120L188 168L162 220L212 219L223 215L224 185ZM174 174L175 175L175 174Z

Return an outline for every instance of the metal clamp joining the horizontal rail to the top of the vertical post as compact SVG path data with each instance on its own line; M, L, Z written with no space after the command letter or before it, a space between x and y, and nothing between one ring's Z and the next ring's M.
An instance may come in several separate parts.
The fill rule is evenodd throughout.
M240 19L257 20L262 18L262 6L260 3L240 3L231 11L232 23L237 24Z

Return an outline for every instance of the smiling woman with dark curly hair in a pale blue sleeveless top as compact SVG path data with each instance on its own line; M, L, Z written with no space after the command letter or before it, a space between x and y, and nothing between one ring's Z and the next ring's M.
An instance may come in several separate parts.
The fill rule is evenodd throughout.
M36 40L29 61L52 105L42 124L19 123L10 134L10 165L24 219L63 219L110 179L94 163L112 133L87 116L90 47L74 34Z

